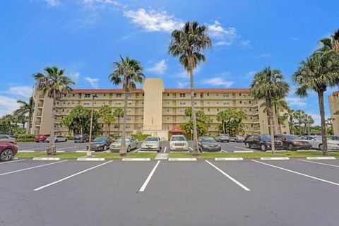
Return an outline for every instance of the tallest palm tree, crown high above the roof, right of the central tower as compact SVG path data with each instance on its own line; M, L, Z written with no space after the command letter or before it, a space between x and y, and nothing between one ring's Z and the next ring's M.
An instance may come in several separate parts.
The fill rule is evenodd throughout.
M196 130L196 107L194 104L194 77L193 71L200 61L205 62L206 58L201 52L212 47L212 41L207 34L205 25L198 22L187 22L181 30L172 32L172 40L169 43L168 52L174 57L179 56L179 61L191 80L191 107L193 121L193 155L198 155L198 133Z

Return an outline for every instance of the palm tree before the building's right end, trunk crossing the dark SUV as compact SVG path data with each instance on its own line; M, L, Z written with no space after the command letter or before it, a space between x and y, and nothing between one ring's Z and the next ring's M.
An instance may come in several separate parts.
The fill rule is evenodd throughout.
M274 130L273 130L273 100L280 100L287 96L290 91L288 83L279 69L271 70L270 67L259 71L251 83L251 95L255 100L264 100L267 106L268 121L270 124L270 136L272 153L275 153Z

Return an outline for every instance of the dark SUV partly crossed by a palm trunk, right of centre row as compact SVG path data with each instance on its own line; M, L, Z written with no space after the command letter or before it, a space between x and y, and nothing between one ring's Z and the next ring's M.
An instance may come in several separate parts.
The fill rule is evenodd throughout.
M271 138L269 135L251 134L245 138L246 148L260 148L262 151L269 150L271 148ZM283 148L283 142L275 140L275 148Z

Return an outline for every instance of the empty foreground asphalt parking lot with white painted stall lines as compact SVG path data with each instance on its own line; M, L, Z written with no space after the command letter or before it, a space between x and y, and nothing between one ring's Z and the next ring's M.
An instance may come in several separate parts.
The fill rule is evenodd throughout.
M0 225L338 225L339 160L0 163Z

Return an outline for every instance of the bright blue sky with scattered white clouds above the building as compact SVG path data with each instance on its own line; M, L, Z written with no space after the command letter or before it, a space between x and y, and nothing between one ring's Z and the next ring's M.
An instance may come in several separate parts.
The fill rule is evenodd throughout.
M189 78L167 54L170 32L187 20L208 27L213 49L195 73L196 88L248 88L256 71L280 69L291 83L299 61L338 29L335 1L0 1L0 116L32 90L44 66L66 69L76 88L115 88L107 76L119 54L141 61L145 75L166 88ZM329 115L326 93L326 114ZM317 97L287 97L319 124Z

